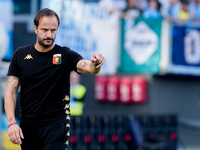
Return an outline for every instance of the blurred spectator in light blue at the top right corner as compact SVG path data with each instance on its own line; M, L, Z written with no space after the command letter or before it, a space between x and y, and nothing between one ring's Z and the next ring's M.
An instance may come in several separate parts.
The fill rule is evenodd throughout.
M200 0L193 0L188 6L188 11L191 20L193 21L200 20Z

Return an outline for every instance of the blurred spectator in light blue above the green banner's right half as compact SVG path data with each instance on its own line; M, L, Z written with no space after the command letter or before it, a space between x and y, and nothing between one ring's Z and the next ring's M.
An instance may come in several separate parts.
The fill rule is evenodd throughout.
M149 0L148 8L144 10L143 16L146 18L159 18L161 14L158 10L158 1L156 0Z

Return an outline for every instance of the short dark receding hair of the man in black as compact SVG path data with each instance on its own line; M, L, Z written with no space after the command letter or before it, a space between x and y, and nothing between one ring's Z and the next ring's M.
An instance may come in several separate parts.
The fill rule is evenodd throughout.
M34 18L34 25L36 27L38 27L40 18L42 18L43 16L55 16L58 20L58 26L60 25L60 19L59 19L57 13L49 8L43 8L40 11L38 11L38 13L36 14L36 16Z

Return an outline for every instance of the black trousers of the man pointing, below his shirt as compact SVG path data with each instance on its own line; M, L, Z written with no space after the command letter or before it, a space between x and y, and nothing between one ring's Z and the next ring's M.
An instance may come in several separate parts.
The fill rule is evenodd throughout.
M69 127L56 123L42 127L22 126L22 150L65 150L69 143Z

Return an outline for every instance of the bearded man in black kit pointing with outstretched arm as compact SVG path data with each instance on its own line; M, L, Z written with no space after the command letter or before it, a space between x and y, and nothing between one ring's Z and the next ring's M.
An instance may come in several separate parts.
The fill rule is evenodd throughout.
M69 137L69 77L71 71L97 74L105 62L95 53L84 60L67 47L54 44L58 15L40 10L34 18L37 41L18 48L8 70L5 112L8 136L22 150L64 150ZM15 121L16 93L20 91L20 127Z

